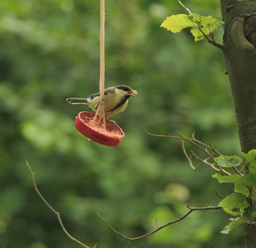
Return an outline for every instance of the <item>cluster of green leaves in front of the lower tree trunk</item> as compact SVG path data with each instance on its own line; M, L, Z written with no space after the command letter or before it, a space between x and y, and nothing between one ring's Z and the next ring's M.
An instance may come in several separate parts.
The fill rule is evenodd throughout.
M228 234L244 223L256 224L256 207L253 204L256 199L256 150L242 153L242 157L221 155L215 158L215 162L221 168L235 168L237 172L228 176L219 173L213 175L220 183L234 183L234 192L226 196L219 206L236 217L230 219L230 224L221 232Z

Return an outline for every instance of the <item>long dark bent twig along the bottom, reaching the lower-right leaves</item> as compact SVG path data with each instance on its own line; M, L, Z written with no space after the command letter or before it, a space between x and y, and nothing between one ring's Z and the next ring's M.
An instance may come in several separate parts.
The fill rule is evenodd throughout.
M191 206L197 206L197 207L192 208ZM199 206L199 207L198 207L198 206ZM219 206L209 206L209 207L205 207L205 206L203 206L203 205L191 205L191 204L190 204L190 205L187 205L187 207L188 207L189 211L188 211L185 215L181 216L179 219L170 221L170 222L168 222L168 223L166 223L166 224L164 224L164 225L162 225L162 226L158 226L154 231L151 231L151 232L149 232L149 233L147 233L147 234L144 234L144 235L141 235L141 236L137 236L137 237L128 237L128 236L125 236L125 235L122 234L121 232L115 230L114 227L112 227L112 226L110 225L109 221L107 221L107 220L104 219L104 217L102 217L101 215L99 215L97 212L95 212L95 214L96 214L98 217L100 217L100 219L103 220L103 221L107 224L107 226L109 226L110 229L111 229L113 232L115 232L115 234L121 236L122 238L124 238L124 239L126 239L126 240L135 241L135 240L140 240L140 239L144 239L145 237L151 236L151 235L155 234L156 232L160 231L161 229L163 229L164 227L170 226L170 225L172 225L172 224L174 224L174 223L176 223L176 222L179 222L179 221L185 219L188 215L191 214L191 212L200 211L200 210L217 210L217 209L222 209L222 207L219 207ZM128 244L128 246L129 246L130 244L131 244L131 242ZM128 246L126 246L126 247L128 247Z

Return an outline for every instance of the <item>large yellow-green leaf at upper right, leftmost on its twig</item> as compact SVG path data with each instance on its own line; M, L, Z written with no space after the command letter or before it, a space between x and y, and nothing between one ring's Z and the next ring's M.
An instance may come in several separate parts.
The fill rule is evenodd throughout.
M173 33L179 33L183 28L194 27L195 23L187 14L174 14L167 17L160 27L164 27Z

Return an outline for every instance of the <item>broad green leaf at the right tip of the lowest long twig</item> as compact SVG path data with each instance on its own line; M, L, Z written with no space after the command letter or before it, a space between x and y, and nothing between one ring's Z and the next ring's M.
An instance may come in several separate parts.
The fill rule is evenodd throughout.
M245 207L248 207L249 204L246 200L246 197L244 194L241 193L232 193L231 195L228 195L219 203L220 207L225 207L226 209L234 209L238 208L240 211L243 212Z

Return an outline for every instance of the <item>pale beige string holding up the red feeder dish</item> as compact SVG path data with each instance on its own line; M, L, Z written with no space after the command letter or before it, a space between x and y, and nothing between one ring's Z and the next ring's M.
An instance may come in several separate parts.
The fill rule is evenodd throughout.
M106 129L105 120L105 106L104 106L104 82L105 82L105 0L100 0L100 102L95 117L93 118L93 125L99 115L97 125L100 126L103 119L103 128Z

